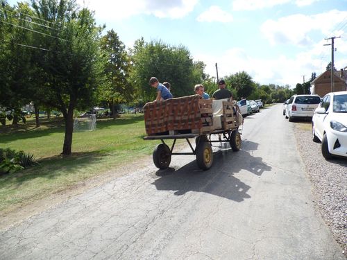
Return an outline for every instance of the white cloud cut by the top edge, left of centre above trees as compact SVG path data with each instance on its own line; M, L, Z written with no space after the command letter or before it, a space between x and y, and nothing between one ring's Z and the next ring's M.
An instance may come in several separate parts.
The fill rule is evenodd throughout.
M96 17L102 19L121 20L139 14L179 19L192 12L198 0L77 0L77 3L95 10Z

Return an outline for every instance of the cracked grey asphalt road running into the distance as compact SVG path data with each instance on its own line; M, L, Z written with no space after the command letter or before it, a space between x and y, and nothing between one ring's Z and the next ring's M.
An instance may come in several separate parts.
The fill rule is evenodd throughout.
M345 259L314 208L282 105L245 119L242 150L153 162L0 232L0 259ZM155 141L153 141L155 142ZM219 143L214 143L220 146Z

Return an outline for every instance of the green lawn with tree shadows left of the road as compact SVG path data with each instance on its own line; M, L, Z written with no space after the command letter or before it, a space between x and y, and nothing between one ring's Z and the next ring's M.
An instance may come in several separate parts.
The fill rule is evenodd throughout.
M33 153L39 162L24 171L0 175L0 211L70 189L82 180L150 155L158 144L143 140L142 114L125 114L115 121L101 119L94 131L74 132L69 157L60 156L64 130L61 117L42 120L40 128L35 128L33 120L17 128L0 126L1 148Z

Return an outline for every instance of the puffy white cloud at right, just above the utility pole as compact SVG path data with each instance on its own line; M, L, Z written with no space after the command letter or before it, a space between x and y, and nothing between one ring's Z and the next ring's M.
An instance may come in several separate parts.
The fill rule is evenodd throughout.
M330 37L340 21L347 16L346 11L330 10L317 15L289 15L278 20L269 19L260 30L271 44L312 44L310 37L319 31L323 37Z

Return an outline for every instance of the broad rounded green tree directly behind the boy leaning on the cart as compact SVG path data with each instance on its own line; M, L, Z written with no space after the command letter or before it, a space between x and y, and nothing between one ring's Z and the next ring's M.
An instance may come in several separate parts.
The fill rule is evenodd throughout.
M149 78L155 76L160 82L171 83L174 96L194 94L195 80L201 80L202 63L196 63L185 46L169 46L162 41L144 42L137 40L130 50L133 68L130 82L135 87L136 95L144 101L153 101L156 94L149 86ZM200 72L199 72L200 71Z

